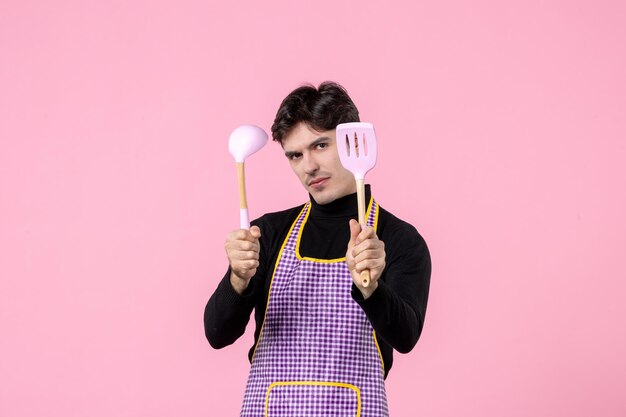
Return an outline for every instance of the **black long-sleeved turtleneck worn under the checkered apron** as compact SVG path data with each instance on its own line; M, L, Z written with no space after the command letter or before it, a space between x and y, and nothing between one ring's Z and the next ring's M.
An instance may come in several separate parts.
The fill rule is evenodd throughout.
M371 194L366 186L366 203ZM300 255L337 259L346 255L350 240L349 220L357 219L357 199L351 194L320 205L313 198L309 218L300 240ZM216 349L232 344L246 329L254 309L256 330L251 360L258 341L270 281L280 247L304 205L266 214L252 222L261 229L259 267L250 285L239 295L230 284L230 268L218 284L204 310L204 330ZM376 235L385 243L386 266L378 288L367 299L352 284L352 298L376 331L385 366L385 377L393 363L393 349L407 353L417 343L424 325L430 284L430 254L426 242L410 224L379 205Z

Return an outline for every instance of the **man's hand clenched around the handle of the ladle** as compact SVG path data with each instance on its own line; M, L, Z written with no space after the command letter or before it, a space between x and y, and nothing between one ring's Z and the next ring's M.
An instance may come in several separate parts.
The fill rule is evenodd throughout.
M250 230L239 229L230 232L224 243L230 264L230 284L238 294L248 288L250 279L259 266L259 238L261 229L252 226Z

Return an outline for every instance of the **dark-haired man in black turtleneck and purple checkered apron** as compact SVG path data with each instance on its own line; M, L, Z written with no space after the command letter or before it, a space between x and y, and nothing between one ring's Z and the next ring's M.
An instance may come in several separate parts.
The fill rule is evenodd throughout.
M368 226L356 222L354 176L335 128L359 121L338 84L300 87L282 102L272 136L309 193L306 204L253 221L225 243L229 268L207 303L216 349L245 331L255 343L241 416L387 416L384 378L424 324L430 255L415 228L366 186ZM360 272L370 270L363 287Z

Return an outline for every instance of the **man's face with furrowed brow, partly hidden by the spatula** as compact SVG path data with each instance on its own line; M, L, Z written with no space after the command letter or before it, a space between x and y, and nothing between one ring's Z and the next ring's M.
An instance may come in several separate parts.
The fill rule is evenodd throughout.
M334 130L317 132L298 123L282 145L291 169L318 204L356 192L354 175L339 160Z

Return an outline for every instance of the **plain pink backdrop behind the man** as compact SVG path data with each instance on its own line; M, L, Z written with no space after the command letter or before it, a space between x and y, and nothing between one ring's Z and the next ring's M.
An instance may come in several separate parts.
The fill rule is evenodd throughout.
M624 416L626 3L0 4L0 416L238 415L204 339L239 124L302 82L375 123L433 260L393 416ZM306 198L279 146L251 214Z

